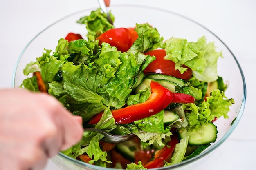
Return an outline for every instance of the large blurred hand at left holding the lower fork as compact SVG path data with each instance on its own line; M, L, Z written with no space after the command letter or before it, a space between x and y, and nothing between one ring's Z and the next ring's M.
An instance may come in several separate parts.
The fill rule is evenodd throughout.
M81 139L81 124L81 117L46 93L0 90L0 166L3 170L43 169L49 157Z

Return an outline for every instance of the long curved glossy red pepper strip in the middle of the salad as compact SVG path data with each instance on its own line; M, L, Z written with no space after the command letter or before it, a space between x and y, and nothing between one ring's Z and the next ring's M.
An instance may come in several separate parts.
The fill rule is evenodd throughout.
M117 124L128 124L159 113L173 100L173 93L161 86L158 82L151 81L151 95L146 102L111 110ZM92 117L89 124L96 124L103 113Z

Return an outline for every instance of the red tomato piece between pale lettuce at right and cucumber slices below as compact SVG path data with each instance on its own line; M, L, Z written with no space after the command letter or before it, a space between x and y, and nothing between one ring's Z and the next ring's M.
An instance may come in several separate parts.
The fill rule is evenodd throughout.
M166 51L164 49L156 49L153 51L148 51L145 54L150 56L155 56L156 59L151 62L148 67L144 70L144 73L159 73L164 75L171 75L173 77L177 77L180 79L188 80L192 76L191 68L188 68L183 74L180 73L179 70L175 70L175 62L171 60L166 60L164 57L166 56Z

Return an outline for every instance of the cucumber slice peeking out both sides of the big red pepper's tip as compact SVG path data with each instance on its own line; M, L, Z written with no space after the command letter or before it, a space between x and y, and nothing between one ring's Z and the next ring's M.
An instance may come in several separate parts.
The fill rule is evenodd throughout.
M164 80L164 79L150 79L150 78L144 78L141 84L139 84L139 86L137 86L137 88L135 89L135 93L139 93L139 90L144 90L146 87L150 89L151 81L158 82L163 87L168 88L171 92L176 93L175 86L178 86L178 84L174 82L170 82L168 80Z

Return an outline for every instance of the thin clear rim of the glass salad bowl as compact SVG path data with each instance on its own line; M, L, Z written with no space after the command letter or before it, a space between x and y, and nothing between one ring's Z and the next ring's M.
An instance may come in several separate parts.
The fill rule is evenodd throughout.
M186 17L184 15L181 15L179 13L176 13L176 12L173 12L173 11L169 11L167 9L162 9L162 8L159 8L159 7L152 7L152 6L148 6L148 5L138 5L138 4L114 4L112 5L111 7L137 7L137 8L145 8L145 9L153 9L153 10L160 10L160 11L164 11L166 13L171 13L173 15L177 15L181 18L184 18L186 20L189 20L191 22L193 22L194 24L197 24L198 26L202 27L203 29L205 29L206 31L208 31L209 33L211 33L215 38L217 38L226 48L227 50L229 51L229 53L232 55L232 57L234 58L238 68L239 68L239 71L240 71L240 75L242 77L242 83L243 83L243 98L242 98L242 104L240 106L240 109L239 109L239 112L238 112L238 116L236 117L236 119L232 122L232 126L229 128L229 130L227 131L225 137L222 137L219 141L217 141L217 143L215 143L211 148L209 148L207 150L207 152L202 152L200 153L199 155L191 158L191 159L188 159L186 161L182 161L181 163L177 163L177 164L174 164L174 165L171 165L171 166L166 166L166 167L160 167L160 168L152 168L152 170L166 170L166 169L170 169L170 168L177 168L177 167L180 167L180 166L185 166L186 164L189 164L195 160L200 160L202 157L206 156L207 154L211 153L213 150L215 150L216 148L218 148L224 141L227 140L227 138L231 135L231 133L234 131L234 129L236 128L236 126L238 125L242 115L243 115L243 112L245 110L245 103L246 103L246 83L245 83L245 77L244 77L244 74L243 74L243 71L242 71L242 68L238 62L238 60L236 59L234 53L232 53L232 51L229 49L229 47L215 34L213 33L211 30L207 29L205 26L203 26L202 24L200 24L199 22L196 22L195 20L192 20L191 18L189 17ZM110 7L110 9L111 9ZM81 12L85 12L85 11L92 11L92 10L95 10L99 7L90 7L90 8L87 8L87 9L83 9L83 10L80 10L80 11L76 11L74 13L71 13L69 15L66 15L64 16L63 18L60 18L59 20L57 20L56 22L50 24L49 26L47 26L45 29L43 29L42 31L40 31L26 46L25 48L22 50L22 52L20 53L19 57L18 57L18 60L16 62L16 65L14 67L14 71L13 71L13 75L12 75L12 82L11 82L11 85L12 85L12 88L15 87L15 75L16 75L16 71L17 71L17 67L18 67L18 63L22 57L22 55L25 53L27 47L41 34L43 33L45 30L49 29L49 27L53 26L54 24L57 24L58 22L64 20L65 18L68 18L68 17L71 17L72 15L76 15L78 13L81 13ZM76 159L73 159L65 154L63 154L62 152L59 152L58 153L58 156L61 156L69 161L72 161L74 163L77 163L81 166L84 166L84 167L87 167L87 168L96 168L98 170L117 170L115 168L105 168L105 167L101 167L101 166L95 166L95 165L92 165L92 164L89 164L89 163L85 163L85 162L82 162L82 161L79 161L79 160L76 160Z

